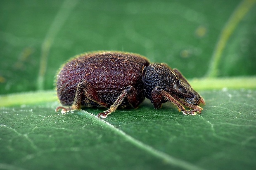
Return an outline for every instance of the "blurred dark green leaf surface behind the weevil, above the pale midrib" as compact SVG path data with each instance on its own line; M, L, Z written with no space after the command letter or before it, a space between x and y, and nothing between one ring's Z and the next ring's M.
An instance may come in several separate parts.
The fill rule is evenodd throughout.
M98 50L139 53L187 78L205 77L241 2L1 0L0 94L53 89L66 60ZM218 77L256 75L256 6L248 8L221 51Z

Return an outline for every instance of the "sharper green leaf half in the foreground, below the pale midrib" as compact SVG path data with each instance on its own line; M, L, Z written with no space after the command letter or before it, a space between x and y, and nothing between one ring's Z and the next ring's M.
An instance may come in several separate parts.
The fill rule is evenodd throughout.
M256 91L199 92L206 106L196 116L149 101L104 120L97 108L56 113L57 102L2 107L0 168L253 169Z

